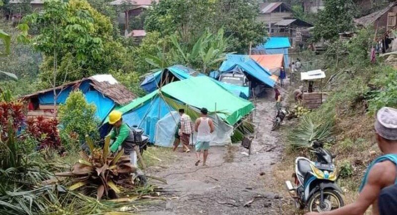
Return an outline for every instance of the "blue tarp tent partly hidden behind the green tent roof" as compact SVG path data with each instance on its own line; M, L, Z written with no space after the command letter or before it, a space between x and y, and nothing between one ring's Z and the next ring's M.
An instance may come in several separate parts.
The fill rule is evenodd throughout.
M165 83L171 83L173 81L179 81L179 80L185 80L187 78L195 77L195 76L205 76L202 73L196 72L191 68L182 66L182 65L174 65L171 66L167 69L165 69L163 72L158 71L156 73L150 74L146 76L145 80L140 84L140 86L148 93L151 93L155 91L161 84L160 82L163 82L163 85ZM163 77L163 78L161 78ZM167 81L165 81L167 80ZM248 87L241 87L241 86L235 86L227 83L222 83L219 82L215 79L212 79L215 83L226 89L227 91L233 93L234 95L241 97L243 99L248 99L250 97L250 90ZM162 85L162 86L163 86Z

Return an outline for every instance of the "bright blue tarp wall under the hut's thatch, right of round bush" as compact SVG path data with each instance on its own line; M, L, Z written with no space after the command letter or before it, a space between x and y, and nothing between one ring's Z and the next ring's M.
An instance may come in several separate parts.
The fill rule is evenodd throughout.
M87 91L85 93L85 99L87 100L87 103L94 104L96 106L95 115L101 121L103 121L113 107L115 107L115 103L111 99L103 96L98 91Z

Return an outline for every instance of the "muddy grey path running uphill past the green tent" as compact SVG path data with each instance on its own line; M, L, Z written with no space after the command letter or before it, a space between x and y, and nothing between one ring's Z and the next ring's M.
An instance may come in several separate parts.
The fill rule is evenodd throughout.
M195 154L175 153L171 163L162 163L161 168L150 167L148 174L167 180L159 184L172 191L167 201L152 204L137 211L145 215L275 215L282 214L283 197L273 192L272 166L280 157L278 132L272 132L271 118L274 114L272 92L267 98L257 101L254 123L257 131L253 141L252 155L248 150L233 146L211 147L208 166L195 166ZM164 168L165 167L165 168ZM244 205L252 200L250 207ZM174 198L172 198L174 197Z

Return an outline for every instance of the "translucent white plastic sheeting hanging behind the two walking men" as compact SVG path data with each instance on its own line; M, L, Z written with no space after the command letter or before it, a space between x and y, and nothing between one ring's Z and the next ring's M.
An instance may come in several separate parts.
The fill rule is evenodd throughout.
M210 115L211 119L215 124L215 131L211 134L212 141L209 143L210 146L224 146L231 143L230 137L233 134L233 127L226 124L216 114ZM163 118L158 120L156 125L155 141L154 145L162 147L172 147L175 137L177 123L179 122L179 114L176 111L172 111L166 114ZM196 143L197 133L193 134L193 143ZM192 142L192 138L191 138Z

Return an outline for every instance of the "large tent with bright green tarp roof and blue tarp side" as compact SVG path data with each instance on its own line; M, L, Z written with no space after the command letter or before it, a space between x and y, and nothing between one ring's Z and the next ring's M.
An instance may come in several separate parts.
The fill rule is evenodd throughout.
M234 125L254 109L251 102L234 96L211 78L200 76L169 83L161 91L156 90L118 110L123 112L123 120L129 126L142 127L153 143L158 121L181 107L189 109L188 114L195 112L196 115L199 108L206 107L210 112L216 111L217 116L229 125ZM171 128L172 125L167 126Z

